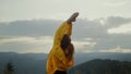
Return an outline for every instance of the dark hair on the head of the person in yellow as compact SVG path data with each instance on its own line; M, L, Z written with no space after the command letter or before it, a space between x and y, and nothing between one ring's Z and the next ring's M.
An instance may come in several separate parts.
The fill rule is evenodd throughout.
M62 40L61 40L61 45L60 47L64 50L68 48L68 46L71 44L71 39L69 35L63 35Z

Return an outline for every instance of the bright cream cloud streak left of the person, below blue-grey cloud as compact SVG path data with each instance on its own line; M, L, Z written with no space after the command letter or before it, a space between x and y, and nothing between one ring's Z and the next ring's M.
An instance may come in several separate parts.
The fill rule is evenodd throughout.
M21 44L48 44L51 42L52 37L45 36L45 37L25 37L25 36L12 36L12 37L2 37L0 38L0 45L13 44L13 42L21 42Z

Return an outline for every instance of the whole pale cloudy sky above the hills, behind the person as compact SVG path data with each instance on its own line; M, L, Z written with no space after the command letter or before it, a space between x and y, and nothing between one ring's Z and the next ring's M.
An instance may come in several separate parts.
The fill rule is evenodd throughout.
M130 0L0 0L0 52L46 52L73 12L76 52L131 52Z

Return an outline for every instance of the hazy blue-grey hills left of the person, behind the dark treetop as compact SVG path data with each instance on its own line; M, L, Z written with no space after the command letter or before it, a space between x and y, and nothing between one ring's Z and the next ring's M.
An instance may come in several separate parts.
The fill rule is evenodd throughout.
M15 74L46 74L46 53L0 52L0 74L12 62Z

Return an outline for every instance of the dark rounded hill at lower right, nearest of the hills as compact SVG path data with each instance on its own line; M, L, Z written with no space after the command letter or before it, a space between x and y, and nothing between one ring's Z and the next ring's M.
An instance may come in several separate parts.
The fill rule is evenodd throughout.
M131 74L131 62L95 59L70 69L69 74Z

